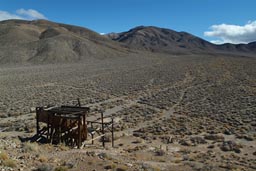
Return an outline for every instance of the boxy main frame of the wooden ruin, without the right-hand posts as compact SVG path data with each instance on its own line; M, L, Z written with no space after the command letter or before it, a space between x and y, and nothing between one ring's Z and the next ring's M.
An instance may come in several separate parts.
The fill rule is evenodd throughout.
M42 134L40 122L46 124L46 138L50 143L64 142L68 145L82 145L82 141L87 139L86 115L88 107L61 106L36 108L36 128L37 134Z

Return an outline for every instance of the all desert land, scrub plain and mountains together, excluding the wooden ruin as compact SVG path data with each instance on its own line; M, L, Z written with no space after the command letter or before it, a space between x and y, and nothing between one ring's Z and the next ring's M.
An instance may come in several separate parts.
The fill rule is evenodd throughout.
M100 35L1 21L0 169L256 170L255 55L256 42L215 45L153 26ZM36 107L77 98L88 118L114 118L114 147L23 141L36 134Z

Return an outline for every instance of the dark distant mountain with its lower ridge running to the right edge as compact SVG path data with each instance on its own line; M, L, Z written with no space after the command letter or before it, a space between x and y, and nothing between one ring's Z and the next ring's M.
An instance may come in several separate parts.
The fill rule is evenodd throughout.
M158 27L135 27L127 32L107 35L136 49L165 53L256 53L256 42L215 45L186 32Z

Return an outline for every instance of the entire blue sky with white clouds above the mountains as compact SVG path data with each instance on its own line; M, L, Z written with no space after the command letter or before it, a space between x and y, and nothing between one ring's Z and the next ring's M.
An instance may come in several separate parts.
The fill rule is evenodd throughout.
M186 31L215 43L256 41L256 0L0 0L0 20L38 19L122 32Z

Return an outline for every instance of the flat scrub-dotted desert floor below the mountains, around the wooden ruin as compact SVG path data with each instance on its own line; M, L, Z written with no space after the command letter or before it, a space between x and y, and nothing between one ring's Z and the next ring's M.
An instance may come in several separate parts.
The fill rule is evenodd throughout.
M256 170L255 65L247 57L149 55L1 67L0 168ZM114 148L19 140L35 134L36 106L77 98L115 117Z

